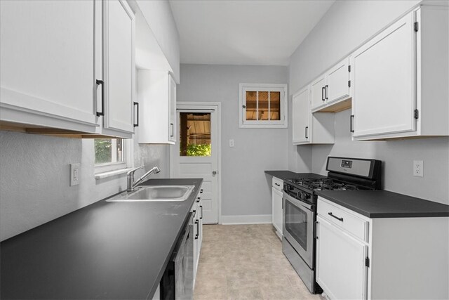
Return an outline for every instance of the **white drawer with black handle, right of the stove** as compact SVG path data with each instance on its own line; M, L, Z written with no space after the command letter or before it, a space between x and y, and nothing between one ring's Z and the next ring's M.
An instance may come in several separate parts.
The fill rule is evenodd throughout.
M337 204L330 204L318 199L318 214L323 218L337 226L342 227L349 233L359 239L368 242L368 221L347 212L340 208Z

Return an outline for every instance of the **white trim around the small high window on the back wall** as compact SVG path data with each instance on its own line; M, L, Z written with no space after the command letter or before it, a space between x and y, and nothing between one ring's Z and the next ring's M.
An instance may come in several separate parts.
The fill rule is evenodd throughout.
M287 128L288 127L288 89L287 84L239 84L239 128ZM246 91L280 91L281 120L280 121L247 121Z

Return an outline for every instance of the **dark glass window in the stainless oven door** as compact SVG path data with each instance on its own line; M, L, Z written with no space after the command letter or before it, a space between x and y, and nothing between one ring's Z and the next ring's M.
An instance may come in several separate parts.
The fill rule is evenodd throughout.
M307 251L307 214L286 201L286 230Z

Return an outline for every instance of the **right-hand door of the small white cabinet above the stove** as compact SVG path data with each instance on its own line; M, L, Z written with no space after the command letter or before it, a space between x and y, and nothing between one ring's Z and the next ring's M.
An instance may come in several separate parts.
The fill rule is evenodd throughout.
M325 97L326 103L349 97L349 58L337 63L327 72Z

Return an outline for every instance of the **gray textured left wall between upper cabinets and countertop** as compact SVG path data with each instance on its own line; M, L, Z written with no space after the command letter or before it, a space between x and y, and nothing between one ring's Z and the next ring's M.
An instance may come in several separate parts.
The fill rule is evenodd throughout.
M168 178L168 146L134 144ZM93 140L0 131L0 240L68 214L126 188L126 174L95 180ZM69 186L69 164L81 162L79 185ZM136 172L136 177L144 171Z

